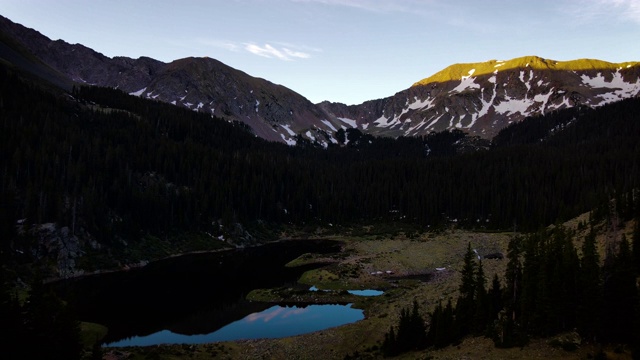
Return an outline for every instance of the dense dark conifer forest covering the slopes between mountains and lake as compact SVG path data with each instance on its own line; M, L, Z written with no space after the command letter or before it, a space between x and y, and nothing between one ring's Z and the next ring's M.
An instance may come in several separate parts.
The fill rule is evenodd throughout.
M5 241L21 219L82 227L104 243L257 220L535 229L640 181L639 99L527 119L488 151L456 154L459 131L349 130L348 145L323 149L266 142L239 123L119 90L60 94L2 72Z

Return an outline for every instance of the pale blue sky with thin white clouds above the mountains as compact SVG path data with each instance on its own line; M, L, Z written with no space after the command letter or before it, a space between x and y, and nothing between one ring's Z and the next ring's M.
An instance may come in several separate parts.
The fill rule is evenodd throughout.
M104 55L208 56L314 103L391 96L454 63L640 60L640 0L0 0Z

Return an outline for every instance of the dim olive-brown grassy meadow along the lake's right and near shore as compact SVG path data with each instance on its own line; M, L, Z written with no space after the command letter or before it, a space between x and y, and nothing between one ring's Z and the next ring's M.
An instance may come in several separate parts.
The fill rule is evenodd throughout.
M588 214L563 224L575 231L576 246L580 246L583 237L587 235L586 231L578 229L578 224L585 221L588 221ZM626 224L620 229L621 234L632 236L633 226L632 223ZM375 231L375 227L374 225L369 229ZM604 228L601 227L601 230ZM354 307L364 310L365 319L349 325L282 339L238 340L188 346L105 348L105 358L137 359L154 356L159 359L306 359L321 354L322 358L327 359L344 359L349 356L380 359L380 347L385 333L391 326L397 325L403 308L410 307L416 300L425 313L432 312L439 302L458 296L462 259L468 243L471 243L481 256L493 252L506 253L509 240L514 235L510 232L470 232L451 227L438 234L424 233L414 238L408 238L402 233L384 239L367 235L330 236L343 243L339 253L329 257L309 253L288 266L330 262L330 265L307 271L298 281L303 283L302 285L314 284L319 289L332 291L323 294L317 291L294 290L285 286L256 289L248 294L247 299L273 304L353 302ZM604 251L605 237L605 232L598 237L601 251ZM507 259L483 259L485 276L491 279L497 274L504 282L503 274L507 262ZM436 266L445 269L438 271L435 269ZM392 273L375 274L376 269L392 269ZM411 278L416 274L431 276L423 277L422 280ZM341 291L354 288L383 289L384 294L358 297ZM524 347L499 349L490 338L471 336L464 338L457 346L410 352L398 358L583 359L593 357L601 351L600 347L586 342L580 344L576 350L567 351L558 345L552 345L552 340L553 338L532 338ZM614 356L614 348L605 347L602 351ZM630 358L628 350L616 356Z

